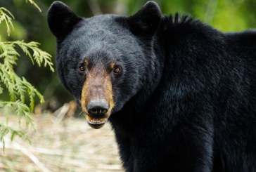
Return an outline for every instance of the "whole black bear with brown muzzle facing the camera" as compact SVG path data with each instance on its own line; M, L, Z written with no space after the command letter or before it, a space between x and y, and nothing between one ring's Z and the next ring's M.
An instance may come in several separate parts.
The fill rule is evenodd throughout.
M256 32L222 33L148 1L80 18L56 1L58 74L125 171L256 171Z

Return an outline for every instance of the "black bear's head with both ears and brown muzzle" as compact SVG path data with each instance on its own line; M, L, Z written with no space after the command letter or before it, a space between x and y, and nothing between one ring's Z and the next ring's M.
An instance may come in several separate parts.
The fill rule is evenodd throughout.
M93 128L101 128L146 84L148 70L154 67L152 41L160 19L153 1L129 17L80 18L59 1L49 8L60 80Z

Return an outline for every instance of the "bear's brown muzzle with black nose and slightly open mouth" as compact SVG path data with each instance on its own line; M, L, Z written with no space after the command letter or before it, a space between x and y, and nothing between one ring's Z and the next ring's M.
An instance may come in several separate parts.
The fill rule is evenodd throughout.
M101 128L114 107L111 78L102 69L90 70L82 88L82 110L92 128Z

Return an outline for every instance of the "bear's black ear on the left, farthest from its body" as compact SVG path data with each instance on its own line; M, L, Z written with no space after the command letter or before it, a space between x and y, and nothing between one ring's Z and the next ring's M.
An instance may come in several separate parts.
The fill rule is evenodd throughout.
M47 20L53 35L62 40L82 18L75 15L64 3L54 1L49 8Z

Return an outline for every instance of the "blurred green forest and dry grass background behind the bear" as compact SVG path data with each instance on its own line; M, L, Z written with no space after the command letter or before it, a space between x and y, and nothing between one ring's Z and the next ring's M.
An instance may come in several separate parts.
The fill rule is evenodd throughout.
M35 0L41 13L25 0L0 0L0 7L15 16L14 30L8 37L1 25L1 41L24 40L41 43L42 50L53 56L55 63L56 40L49 31L46 15L52 0ZM89 18L104 13L132 15L146 3L145 0L63 0L77 15ZM165 15L180 13L215 27L222 32L235 32L256 28L256 0L156 0ZM72 101L72 95L61 86L56 72L33 66L30 59L20 57L16 72L30 81L46 102L35 108L35 114L51 114L47 118L35 115L37 133L27 131L32 144L15 140L0 151L0 171L123 171L117 154L117 145L110 126L93 130L85 119L78 116L81 110ZM1 94L8 100L8 93ZM67 107L68 105L68 107ZM65 113L63 113L65 112ZM80 115L82 116L82 115ZM5 120L1 118L0 121ZM10 124L18 124L16 118ZM1 123L1 122L0 122ZM0 145L1 150L1 145Z

